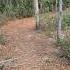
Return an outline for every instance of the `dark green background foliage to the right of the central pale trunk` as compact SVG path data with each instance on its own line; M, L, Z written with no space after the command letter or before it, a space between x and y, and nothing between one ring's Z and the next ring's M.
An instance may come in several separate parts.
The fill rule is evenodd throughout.
M44 12L56 10L56 0L39 0L39 3L42 3ZM57 0L57 5L59 6L59 0ZM63 0L63 9L69 7L70 7L70 0Z

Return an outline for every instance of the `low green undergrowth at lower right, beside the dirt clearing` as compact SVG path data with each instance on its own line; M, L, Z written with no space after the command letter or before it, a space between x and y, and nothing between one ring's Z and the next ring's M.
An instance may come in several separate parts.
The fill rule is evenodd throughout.
M60 57L68 60L68 63L70 64L70 37L59 39L58 47L60 47Z

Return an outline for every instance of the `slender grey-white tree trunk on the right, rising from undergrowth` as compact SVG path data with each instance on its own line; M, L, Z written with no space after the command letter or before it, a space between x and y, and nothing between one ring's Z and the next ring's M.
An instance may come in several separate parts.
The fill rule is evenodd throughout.
M58 0L56 0L56 5L57 5ZM62 25L62 0L59 0L59 8L57 8L56 6L56 10L57 10L57 38L60 39L61 38L61 25Z

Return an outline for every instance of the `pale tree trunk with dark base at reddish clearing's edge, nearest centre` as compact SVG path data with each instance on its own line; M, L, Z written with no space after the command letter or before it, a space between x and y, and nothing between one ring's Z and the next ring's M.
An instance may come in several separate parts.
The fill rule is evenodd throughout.
M35 18L36 18L36 29L39 29L39 5L38 0L34 0L34 11L35 11Z

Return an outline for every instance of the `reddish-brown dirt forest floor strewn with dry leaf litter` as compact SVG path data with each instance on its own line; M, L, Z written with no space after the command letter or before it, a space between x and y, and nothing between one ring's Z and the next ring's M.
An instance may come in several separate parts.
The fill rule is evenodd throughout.
M55 54L55 40L35 30L34 18L7 23L1 28L6 44L0 46L0 60L18 59L4 70L70 70Z

